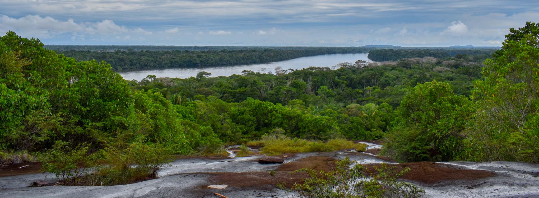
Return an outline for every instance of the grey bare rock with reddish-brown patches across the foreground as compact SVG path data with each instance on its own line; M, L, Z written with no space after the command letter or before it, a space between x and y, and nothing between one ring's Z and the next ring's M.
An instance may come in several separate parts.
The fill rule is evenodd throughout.
M372 148L379 147L371 143ZM298 153L283 164L260 164L257 156L245 158L182 158L161 169L161 178L119 186L28 187L34 181L56 182L53 174L22 174L0 177L0 197L287 197L275 183L300 181L305 175L289 174L295 168L328 169L331 159L344 158L357 164L390 162L397 168L411 167L404 181L423 188L425 197L539 197L539 164L524 162L414 162L397 164L390 159L360 152ZM272 175L270 171L275 171ZM405 175L406 176L406 175ZM423 180L423 181L422 181ZM225 189L208 188L227 185Z

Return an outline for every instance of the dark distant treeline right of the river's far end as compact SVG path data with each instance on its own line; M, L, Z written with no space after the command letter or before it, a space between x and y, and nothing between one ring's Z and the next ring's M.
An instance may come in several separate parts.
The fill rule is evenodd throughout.
M494 53L494 49L482 49L482 50L393 50L393 49L381 49L369 51L369 59L373 61L397 61L407 58L424 58L431 56L438 59L446 59L457 54L461 55L484 55L485 58L489 58L490 54Z

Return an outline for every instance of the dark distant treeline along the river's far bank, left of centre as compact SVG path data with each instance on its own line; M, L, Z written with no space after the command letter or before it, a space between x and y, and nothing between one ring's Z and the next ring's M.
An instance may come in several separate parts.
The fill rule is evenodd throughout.
M362 53L360 47L313 47L309 50L209 50L209 51L57 51L78 61L107 61L115 70L168 67L242 65L274 62L303 56Z

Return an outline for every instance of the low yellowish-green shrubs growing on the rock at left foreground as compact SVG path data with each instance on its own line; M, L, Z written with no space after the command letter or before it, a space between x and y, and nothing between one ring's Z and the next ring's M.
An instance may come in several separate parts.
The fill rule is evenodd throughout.
M156 178L172 161L171 148L159 143L109 146L91 154L88 150L86 143L58 140L40 155L42 170L56 174L62 185L121 185Z

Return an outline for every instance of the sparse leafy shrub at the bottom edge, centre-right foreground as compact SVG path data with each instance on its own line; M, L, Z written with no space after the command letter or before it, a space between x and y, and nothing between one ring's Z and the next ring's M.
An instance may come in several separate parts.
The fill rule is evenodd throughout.
M302 168L293 173L308 173L310 178L303 183L295 183L290 189L292 197L421 197L425 191L412 183L397 181L409 168L397 172L393 167L383 163L374 166L374 170L363 165L353 165L353 161L345 158L336 162L334 171L317 172L314 169ZM281 189L288 190L283 183Z

